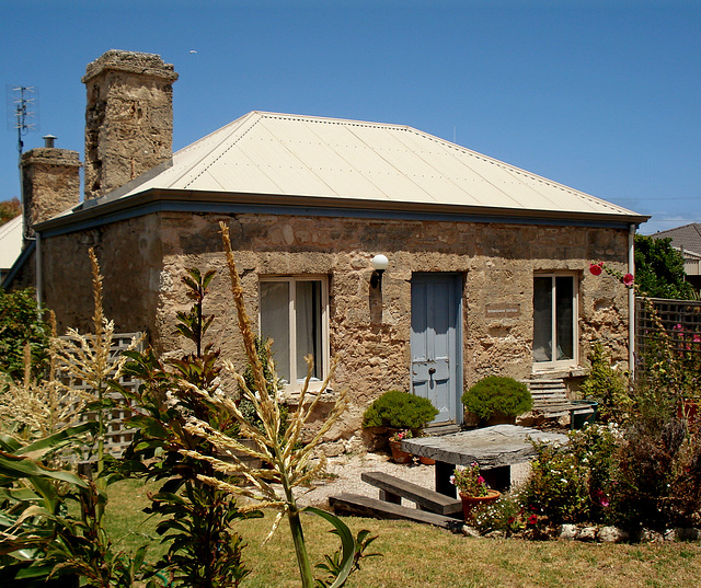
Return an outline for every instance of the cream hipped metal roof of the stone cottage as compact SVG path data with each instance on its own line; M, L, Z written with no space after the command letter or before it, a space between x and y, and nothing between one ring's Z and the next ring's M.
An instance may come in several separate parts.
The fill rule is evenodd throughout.
M150 176L150 177L149 177ZM453 205L645 220L631 210L411 127L252 112L87 207L149 188Z

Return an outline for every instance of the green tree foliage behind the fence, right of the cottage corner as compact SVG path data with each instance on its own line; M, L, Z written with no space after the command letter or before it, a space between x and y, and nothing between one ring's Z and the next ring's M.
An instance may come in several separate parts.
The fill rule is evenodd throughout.
M635 283L653 298L691 300L697 296L685 281L683 256L671 246L671 239L635 234Z

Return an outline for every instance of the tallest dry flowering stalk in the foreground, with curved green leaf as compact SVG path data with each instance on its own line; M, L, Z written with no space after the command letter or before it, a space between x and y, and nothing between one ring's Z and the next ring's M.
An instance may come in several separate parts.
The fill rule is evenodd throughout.
M205 456L196 451L184 450L182 452L185 456L210 463L214 470L227 476L246 479L251 483L251 486L242 486L238 485L235 482L225 482L211 476L197 476L203 482L225 492L253 498L256 504L255 507L252 506L250 508L267 507L277 510L277 516L268 538L277 529L281 518L287 515L302 586L303 588L313 588L314 577L309 555L307 553L307 545L300 520L300 511L302 509L297 505L294 488L296 486L307 484L310 480L319 475L324 468L325 463L323 460L313 462L312 458L314 457L315 449L322 441L324 435L331 429L345 410L345 393L340 394L336 403L331 410L331 414L322 424L314 437L304 445L301 445L302 434L306 430L306 426L308 425L314 408L318 406L322 391L327 388L329 381L335 369L334 360L329 376L323 381L320 391L312 394L309 391L309 382L311 379L311 357L308 357L307 362L309 365L309 370L300 392L299 407L289 416L287 428L285 429L285 427L281 426L283 416L280 412L280 390L278 388L278 380L275 374L274 365L271 358L273 378L272 381L266 381L263 366L256 351L255 335L251 325L251 319L249 318L243 300L243 288L241 287L239 273L231 251L229 229L223 222L220 222L220 228L227 266L231 278L231 293L237 307L239 328L243 337L243 344L248 360L251 365L256 391L249 389L242 374L234 369L230 361L225 361L223 366L225 369L232 373L237 379L240 390L242 391L242 396L253 404L262 424L260 426L251 424L243 416L241 411L239 411L237 403L225 395L222 391L219 390L211 395L207 394L205 391L196 391L203 397L206 397L208 402L214 403L217 407L231 415L239 423L240 437L253 439L256 448L249 448L239 439L215 430L206 422L193 417L186 425L186 430L192 435L205 437L217 449L217 452L221 458ZM265 350L268 357L271 357L269 343ZM307 404L308 395L313 395L314 397ZM262 460L267 468L250 468L235 456L235 452L257 458ZM341 586L353 567L355 540L349 533L348 528L333 515L319 511L317 509L310 510L320 514L330 520L336 527L342 537L344 563L341 566L342 570L338 574L336 581L332 585L334 587Z

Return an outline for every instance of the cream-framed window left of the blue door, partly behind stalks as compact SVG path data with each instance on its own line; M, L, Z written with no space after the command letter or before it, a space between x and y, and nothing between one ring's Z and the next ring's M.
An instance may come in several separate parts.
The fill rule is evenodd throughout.
M307 378L304 357L314 358L312 380L329 369L329 285L325 276L262 277L261 337L273 339L277 377L292 389Z

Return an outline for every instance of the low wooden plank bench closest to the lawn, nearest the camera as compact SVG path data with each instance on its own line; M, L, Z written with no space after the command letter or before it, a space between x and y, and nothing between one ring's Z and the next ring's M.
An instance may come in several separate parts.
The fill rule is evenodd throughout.
M337 496L330 496L329 504L334 512L338 515L355 515L359 517L372 517L379 519L406 519L415 522L423 522L441 527L453 532L460 532L463 520L436 512L426 512L417 508L378 500L359 494L343 493Z

